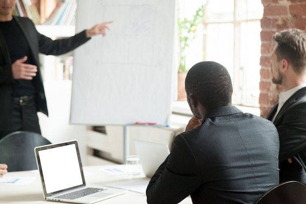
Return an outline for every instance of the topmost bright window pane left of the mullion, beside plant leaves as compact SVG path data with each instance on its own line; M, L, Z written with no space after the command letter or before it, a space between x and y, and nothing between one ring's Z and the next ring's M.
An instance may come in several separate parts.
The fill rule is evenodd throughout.
M228 22L234 20L233 0L210 0L205 11L207 22Z

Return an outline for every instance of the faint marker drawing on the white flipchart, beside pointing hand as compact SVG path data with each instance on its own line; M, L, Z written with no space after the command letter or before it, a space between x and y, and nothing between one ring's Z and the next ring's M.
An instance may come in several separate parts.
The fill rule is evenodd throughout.
M112 19L115 25L111 27L108 40L101 46L100 62L156 68L155 10L153 5L146 4L104 5L102 19Z

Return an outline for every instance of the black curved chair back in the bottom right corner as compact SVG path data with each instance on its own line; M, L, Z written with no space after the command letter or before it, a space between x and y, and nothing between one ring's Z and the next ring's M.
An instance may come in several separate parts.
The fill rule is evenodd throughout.
M306 187L298 181L283 182L265 192L254 204L306 204Z

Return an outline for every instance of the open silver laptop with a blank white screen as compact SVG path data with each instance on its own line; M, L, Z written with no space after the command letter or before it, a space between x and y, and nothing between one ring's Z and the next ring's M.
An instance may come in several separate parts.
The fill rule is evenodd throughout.
M87 187L76 140L36 147L35 156L46 200L92 204L128 191Z

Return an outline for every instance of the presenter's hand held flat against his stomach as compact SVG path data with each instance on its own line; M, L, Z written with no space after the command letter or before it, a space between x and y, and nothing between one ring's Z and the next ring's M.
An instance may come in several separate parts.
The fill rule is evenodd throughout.
M27 56L16 60L12 65L12 72L14 79L32 80L36 76L37 67L35 65L24 64Z

